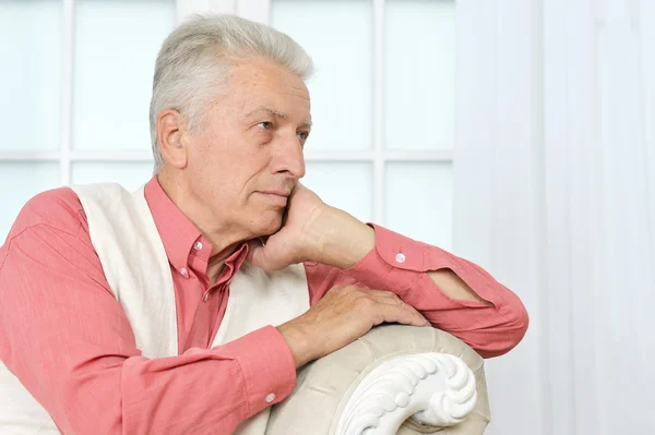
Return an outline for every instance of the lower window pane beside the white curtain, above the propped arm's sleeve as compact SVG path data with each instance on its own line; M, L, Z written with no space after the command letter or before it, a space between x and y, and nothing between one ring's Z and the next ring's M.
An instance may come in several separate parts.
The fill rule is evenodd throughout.
M388 164L385 190L388 228L444 250L451 249L451 164Z

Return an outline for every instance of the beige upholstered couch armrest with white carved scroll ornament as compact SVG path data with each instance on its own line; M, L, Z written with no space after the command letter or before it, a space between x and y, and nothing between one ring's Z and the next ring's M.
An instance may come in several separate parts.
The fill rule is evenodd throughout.
M434 328L382 325L299 371L266 434L480 435L489 420L474 350Z

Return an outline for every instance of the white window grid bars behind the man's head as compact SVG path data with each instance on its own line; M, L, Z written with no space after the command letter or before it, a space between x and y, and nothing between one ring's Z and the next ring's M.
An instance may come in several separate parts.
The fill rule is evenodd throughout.
M74 2L62 1L62 78L60 147L57 150L0 150L2 161L59 162L61 185L71 183L73 162L148 162L150 150L73 149L71 129L73 116ZM307 150L308 162L366 162L372 167L373 210L376 222L384 223L385 168L393 162L453 162L452 149L393 150L384 144L384 12L385 0L373 1L373 146L369 150ZM235 13L270 24L271 0L177 0L178 21L191 13Z

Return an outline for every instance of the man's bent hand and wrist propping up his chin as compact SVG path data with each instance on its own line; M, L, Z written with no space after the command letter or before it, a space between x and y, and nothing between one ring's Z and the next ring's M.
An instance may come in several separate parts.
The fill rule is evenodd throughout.
M331 207L296 184L289 196L286 222L262 244L250 242L248 262L265 270L317 262L347 268L373 247L374 231L346 212Z

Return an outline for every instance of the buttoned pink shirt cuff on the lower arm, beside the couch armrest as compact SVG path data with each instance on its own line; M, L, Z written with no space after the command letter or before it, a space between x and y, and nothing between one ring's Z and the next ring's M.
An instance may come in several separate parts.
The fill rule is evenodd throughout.
M247 397L245 419L284 400L296 385L294 355L277 328L265 326L226 347L241 367Z

